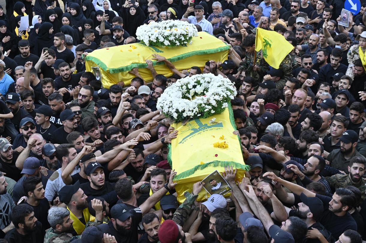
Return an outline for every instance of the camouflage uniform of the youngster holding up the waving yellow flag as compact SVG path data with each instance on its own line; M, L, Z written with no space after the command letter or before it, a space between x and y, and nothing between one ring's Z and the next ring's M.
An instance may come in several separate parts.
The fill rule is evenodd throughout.
M257 52L257 58L255 59L255 65L259 67L258 71L253 70L254 53L247 53L243 62L240 62L238 72L245 72L246 76L254 78L256 82L262 82L263 76L266 75L269 70L268 63L262 57L262 51Z

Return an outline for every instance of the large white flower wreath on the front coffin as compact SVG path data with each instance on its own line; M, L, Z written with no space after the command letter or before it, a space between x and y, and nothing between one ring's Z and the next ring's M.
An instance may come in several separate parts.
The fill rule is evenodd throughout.
M236 89L223 76L197 74L177 80L165 89L156 107L176 122L219 114L234 99Z

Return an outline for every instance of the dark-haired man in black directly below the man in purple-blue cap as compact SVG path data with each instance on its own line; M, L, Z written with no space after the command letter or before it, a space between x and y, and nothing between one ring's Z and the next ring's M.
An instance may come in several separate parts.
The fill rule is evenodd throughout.
M50 208L47 199L45 198L44 185L42 179L37 176L26 177L22 183L22 190L27 197L25 204L32 206L34 211L34 217L42 223L44 231L46 231L50 225L47 220L48 209Z

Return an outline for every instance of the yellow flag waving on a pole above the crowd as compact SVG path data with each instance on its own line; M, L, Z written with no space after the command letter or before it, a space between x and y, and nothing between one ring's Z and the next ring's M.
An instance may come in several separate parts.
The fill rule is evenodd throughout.
M262 50L264 59L271 67L279 69L281 62L292 49L294 46L283 35L276 31L257 28L255 51Z

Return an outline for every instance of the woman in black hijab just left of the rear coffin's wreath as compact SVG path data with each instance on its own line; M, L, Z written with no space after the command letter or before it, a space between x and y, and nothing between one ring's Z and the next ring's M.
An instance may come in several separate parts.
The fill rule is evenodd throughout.
M146 19L145 13L143 13L143 10L136 5L132 5L129 8L123 7L123 10L123 23L126 23L123 25L124 30L126 30L131 36L136 37L137 27L142 25Z

